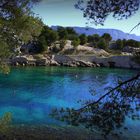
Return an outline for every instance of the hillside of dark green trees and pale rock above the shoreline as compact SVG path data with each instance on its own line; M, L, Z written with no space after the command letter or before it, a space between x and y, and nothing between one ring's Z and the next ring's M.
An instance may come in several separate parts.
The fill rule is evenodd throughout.
M86 36L85 34L77 34L71 27L58 27L57 30L53 30L45 25L38 36L21 46L20 53L80 53L84 55L95 54L96 51L101 49L106 54L134 53L140 50L140 42L133 39L114 41L108 33L104 33L102 36L98 34Z

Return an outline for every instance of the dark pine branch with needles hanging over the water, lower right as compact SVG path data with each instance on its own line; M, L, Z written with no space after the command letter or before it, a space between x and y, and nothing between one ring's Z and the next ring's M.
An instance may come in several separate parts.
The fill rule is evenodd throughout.
M54 109L52 116L68 124L84 125L107 136L113 130L123 127L126 117L140 119L140 74L111 88L99 99L82 102L81 108Z

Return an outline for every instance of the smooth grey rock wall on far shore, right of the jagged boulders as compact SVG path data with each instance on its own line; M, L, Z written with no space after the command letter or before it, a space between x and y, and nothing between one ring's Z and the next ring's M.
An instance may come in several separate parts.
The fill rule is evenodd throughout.
M67 58L67 59L66 59ZM59 63L66 63L69 61L83 61L87 63L98 64L101 67L116 67L116 68L130 68L130 69L140 69L140 65L132 61L131 56L110 56L110 57L96 57L92 55L70 55L70 56L60 56L56 55L54 57L55 61L59 60ZM68 62L68 61L67 61Z

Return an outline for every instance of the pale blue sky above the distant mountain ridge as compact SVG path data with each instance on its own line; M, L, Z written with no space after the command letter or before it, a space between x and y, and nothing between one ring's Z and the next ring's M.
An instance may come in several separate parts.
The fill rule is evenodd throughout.
M82 12L74 8L76 1L77 0L43 0L34 7L33 11L49 26L85 27L86 19L83 18ZM127 20L118 21L109 16L104 26L95 26L92 24L90 27L119 29L128 33L139 22L140 10ZM140 27L136 28L132 33L140 35Z

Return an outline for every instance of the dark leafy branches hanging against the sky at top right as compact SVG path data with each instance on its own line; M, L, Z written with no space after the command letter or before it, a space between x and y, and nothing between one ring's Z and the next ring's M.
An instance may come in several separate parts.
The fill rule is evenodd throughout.
M83 12L83 17L92 24L104 25L106 18L127 19L140 7L139 0L78 0L75 8Z

